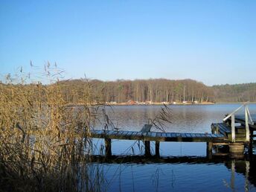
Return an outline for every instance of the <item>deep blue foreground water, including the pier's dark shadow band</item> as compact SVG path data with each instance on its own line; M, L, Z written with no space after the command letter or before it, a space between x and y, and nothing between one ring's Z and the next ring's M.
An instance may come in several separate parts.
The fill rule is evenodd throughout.
M111 184L106 191L255 191L256 188L256 155L244 159L201 156L91 156L91 159L92 164L101 164L109 172L105 176L111 178Z

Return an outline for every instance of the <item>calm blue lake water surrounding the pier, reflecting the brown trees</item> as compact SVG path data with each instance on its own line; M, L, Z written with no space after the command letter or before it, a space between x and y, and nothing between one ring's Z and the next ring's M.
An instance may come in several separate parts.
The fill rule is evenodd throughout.
M222 122L225 114L239 106L170 106L172 124L164 129L166 132L211 132L211 123ZM139 131L149 119L158 115L160 109L161 106L114 106L106 113L115 127ZM250 105L249 110L256 114L256 105ZM95 154L101 153L103 141L95 139L94 144ZM154 153L153 142L151 147ZM113 155L138 158L124 157L93 166L102 170L106 191L256 191L256 161L253 157L209 161L205 158L205 147L205 143L161 142L161 159L153 160L140 158L144 153L141 142L113 140ZM170 156L175 158L167 158Z

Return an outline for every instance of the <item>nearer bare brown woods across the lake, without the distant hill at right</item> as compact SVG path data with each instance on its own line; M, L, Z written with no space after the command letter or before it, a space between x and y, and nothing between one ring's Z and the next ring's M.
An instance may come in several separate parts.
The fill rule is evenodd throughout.
M77 103L85 95L98 103L124 103L129 100L144 103L214 102L214 92L196 80L68 80L59 82L63 95Z

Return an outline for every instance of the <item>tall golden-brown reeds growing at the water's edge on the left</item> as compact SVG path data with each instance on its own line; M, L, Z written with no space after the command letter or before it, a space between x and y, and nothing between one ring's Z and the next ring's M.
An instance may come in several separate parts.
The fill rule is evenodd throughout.
M97 118L90 86L79 107L68 106L58 82L62 75L48 63L41 75L45 85L28 83L31 74L22 68L0 83L0 191L100 191L86 156Z

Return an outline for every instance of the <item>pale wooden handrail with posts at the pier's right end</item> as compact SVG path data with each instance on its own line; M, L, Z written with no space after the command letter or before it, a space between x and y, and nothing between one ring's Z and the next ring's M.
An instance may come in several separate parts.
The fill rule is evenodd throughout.
M237 109L234 110L234 112L231 112L231 114L227 115L223 121L226 122L228 121L229 118L231 118L231 141L235 142L236 137L235 137L235 118L234 115L237 113L240 109L244 107L244 115L245 115L245 128L246 128L246 141L250 140L250 131L249 131L249 124L254 124L252 121L252 116L249 112L248 109L248 104L249 102L244 103L242 106L238 107Z

